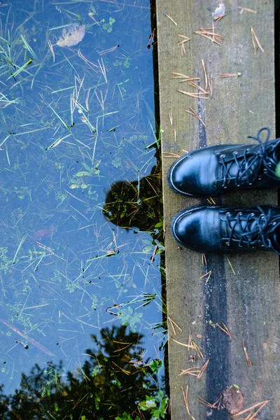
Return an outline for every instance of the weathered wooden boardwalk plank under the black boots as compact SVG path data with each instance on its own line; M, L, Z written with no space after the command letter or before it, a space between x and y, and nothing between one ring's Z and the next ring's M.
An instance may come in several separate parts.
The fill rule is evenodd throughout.
M238 385L244 395L243 409L269 400L252 418L279 420L279 258L273 253L254 253L206 255L202 261L199 253L179 248L169 232L177 211L206 201L181 197L169 189L166 176L174 158L168 153L182 155L203 146L251 142L246 136L256 136L264 126L271 128L272 139L275 135L274 3L225 1L226 16L214 22L215 33L224 38L211 35L213 29L209 29L213 24L211 12L218 6L218 0L157 1L167 310L181 328L172 328L169 323L172 420L230 419L225 409L207 407L197 398L213 404L232 384ZM206 29L204 36L194 33L202 28ZM253 38L255 50L251 28L260 43ZM208 99L178 92L195 93L197 89L190 83L180 83L182 79L174 78L174 73L200 77L200 87L207 90ZM241 76L219 76L239 73ZM211 80L213 89L209 87ZM189 106L200 114L205 127L185 111ZM276 199L275 191L249 191L230 193L215 202L245 207L276 204ZM216 323L222 327L224 323L231 338ZM203 359L182 345L190 344L190 335L202 350ZM252 366L248 365L242 342ZM179 376L189 367L200 369L208 359L201 379L190 374ZM190 414L182 393L187 385ZM234 419L251 419L249 414Z

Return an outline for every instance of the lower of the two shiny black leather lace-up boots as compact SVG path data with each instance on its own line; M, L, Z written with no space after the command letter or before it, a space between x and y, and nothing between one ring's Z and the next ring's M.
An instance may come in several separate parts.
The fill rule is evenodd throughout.
M180 211L172 235L201 253L274 251L280 255L280 207L198 206Z

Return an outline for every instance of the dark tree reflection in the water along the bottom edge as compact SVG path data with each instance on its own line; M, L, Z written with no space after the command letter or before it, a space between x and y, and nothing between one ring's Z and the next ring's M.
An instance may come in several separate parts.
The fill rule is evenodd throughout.
M92 335L94 349L87 350L89 360L76 372L66 372L62 362L50 362L43 369L34 365L29 376L22 374L14 395L4 395L0 387L0 418L140 420L153 414L163 418L160 411L165 412L167 400L157 375L162 363L144 362L142 337L127 332L126 326L104 328L100 340Z

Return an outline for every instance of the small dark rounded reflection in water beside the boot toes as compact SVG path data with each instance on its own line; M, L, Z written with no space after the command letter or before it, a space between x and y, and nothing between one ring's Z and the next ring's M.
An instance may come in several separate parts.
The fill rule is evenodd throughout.
M106 196L104 215L121 228L151 231L162 221L161 160L139 181L118 181Z

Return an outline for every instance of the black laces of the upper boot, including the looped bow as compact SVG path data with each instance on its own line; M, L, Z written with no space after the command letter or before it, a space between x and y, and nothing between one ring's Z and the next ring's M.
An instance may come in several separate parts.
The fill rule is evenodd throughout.
M265 141L262 141L260 134L267 131ZM221 165L223 166L223 188L226 188L229 181L235 179L237 187L240 186L241 181L251 185L259 176L262 165L265 167L264 172L268 173L272 179L279 181L279 178L274 174L275 165L278 163L274 158L272 151L280 144L280 139L269 142L270 130L267 127L262 127L258 130L257 137L248 136L248 139L258 141L260 148L258 151L252 151L247 148L241 156L237 157L237 152L233 153L233 159L225 162L225 155L221 155ZM237 175L232 178L230 176L230 169L232 165L237 165Z

